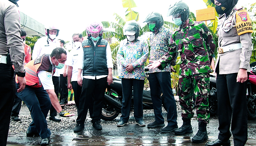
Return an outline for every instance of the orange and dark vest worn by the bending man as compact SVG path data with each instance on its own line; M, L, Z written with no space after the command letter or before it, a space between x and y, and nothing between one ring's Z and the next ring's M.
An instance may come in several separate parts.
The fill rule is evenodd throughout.
M26 85L37 88L42 87L41 81L37 76L37 72L40 70L52 72L52 65L50 64L49 56L50 54L43 54L42 56L38 56L36 59L29 61L25 65ZM18 83L18 76L16 76L16 82Z

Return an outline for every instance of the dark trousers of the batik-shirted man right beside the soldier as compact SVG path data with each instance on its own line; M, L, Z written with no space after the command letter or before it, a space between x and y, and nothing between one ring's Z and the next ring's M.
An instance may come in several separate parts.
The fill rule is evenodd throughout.
M174 95L172 92L171 75L170 72L156 72L150 73L149 77L151 99L154 107L155 121L158 123L164 123L162 114L162 99L165 98L167 108L167 122L168 126L177 125L177 107Z

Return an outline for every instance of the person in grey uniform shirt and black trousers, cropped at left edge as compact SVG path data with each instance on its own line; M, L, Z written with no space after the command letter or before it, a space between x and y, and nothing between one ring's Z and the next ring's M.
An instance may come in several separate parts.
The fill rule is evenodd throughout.
M15 97L14 71L18 75L18 81L20 82L17 92L21 92L26 85L23 64L25 53L22 38L20 38L18 0L10 1L0 1L0 146L6 146L8 137L12 105ZM12 68L11 62L15 70Z

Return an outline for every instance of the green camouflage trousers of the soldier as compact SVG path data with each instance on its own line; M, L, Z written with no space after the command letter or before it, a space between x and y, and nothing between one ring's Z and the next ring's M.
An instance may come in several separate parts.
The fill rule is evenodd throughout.
M182 118L193 118L192 98L195 98L198 122L209 123L208 94L210 73L200 73L190 76L179 76L179 101Z

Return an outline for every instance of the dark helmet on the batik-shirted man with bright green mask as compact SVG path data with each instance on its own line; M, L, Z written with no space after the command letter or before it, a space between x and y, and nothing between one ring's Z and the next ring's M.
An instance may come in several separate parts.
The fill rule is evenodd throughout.
M163 16L158 12L151 12L148 14L144 22L147 22L147 24L151 21L155 21L155 27L153 28L154 31L158 28L163 26Z

